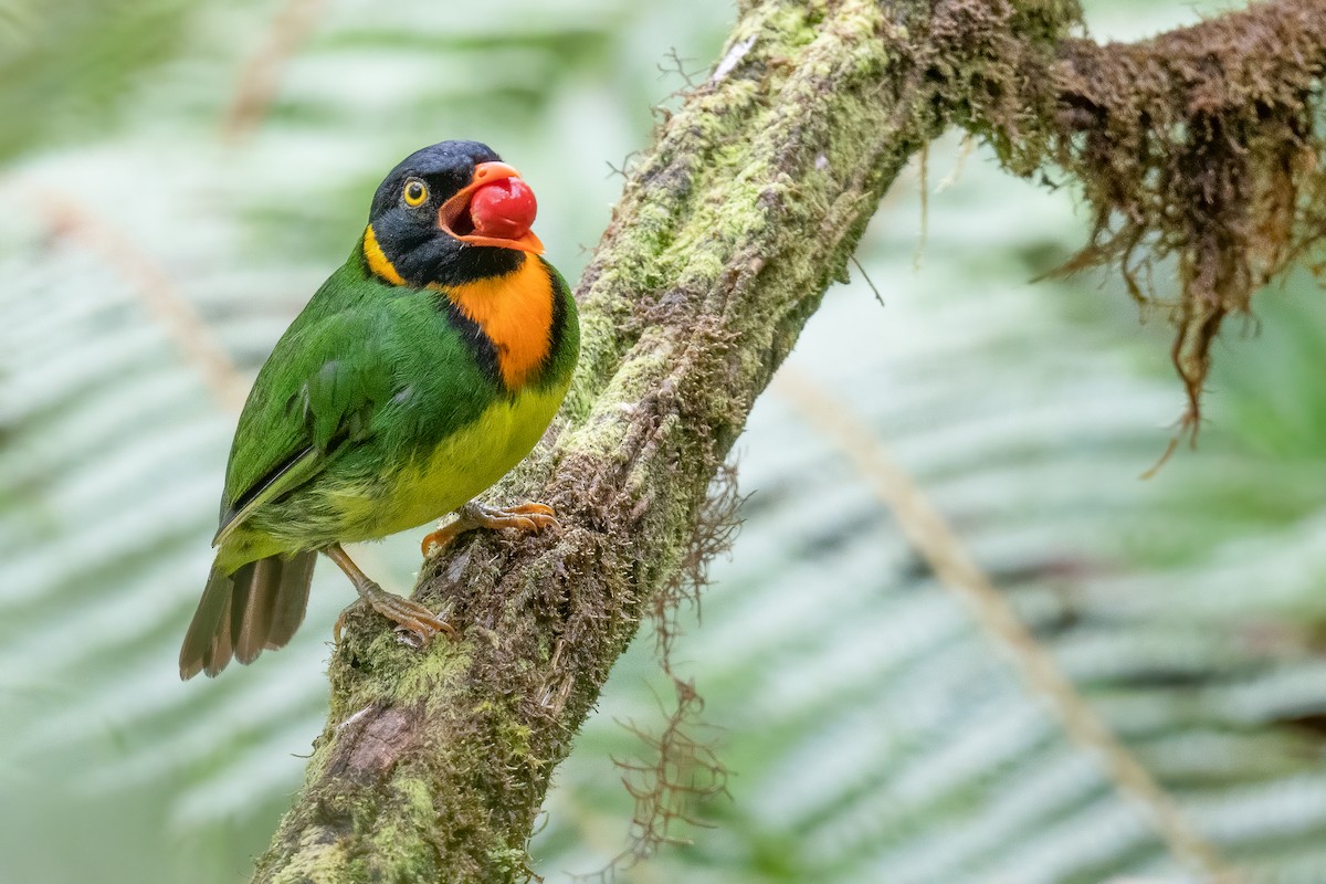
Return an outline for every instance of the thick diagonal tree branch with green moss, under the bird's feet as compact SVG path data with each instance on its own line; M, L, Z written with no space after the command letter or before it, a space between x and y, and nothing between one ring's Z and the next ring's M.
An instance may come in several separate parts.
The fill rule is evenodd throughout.
M1073 0L741 4L581 280L585 350L561 421L496 493L553 504L562 530L476 535L426 567L416 596L455 641L420 653L379 618L349 618L326 729L255 880L530 875L554 766L911 155L960 123L1022 174L1099 162L1069 131L1091 45L1067 38L1078 15Z

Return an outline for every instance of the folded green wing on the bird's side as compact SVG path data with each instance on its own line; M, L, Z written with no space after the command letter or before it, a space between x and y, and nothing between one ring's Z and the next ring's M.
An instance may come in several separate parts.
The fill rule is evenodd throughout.
M396 392L374 318L365 310L310 315L277 342L240 415L213 546L369 435L373 414Z

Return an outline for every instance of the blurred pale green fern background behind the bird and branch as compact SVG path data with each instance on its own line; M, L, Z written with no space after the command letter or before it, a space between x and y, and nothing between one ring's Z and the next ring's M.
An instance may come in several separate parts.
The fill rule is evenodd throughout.
M1086 5L1134 38L1228 4ZM351 594L324 566L290 648L178 681L236 390L422 144L495 146L574 280L613 167L733 15L0 0L0 881L247 879ZM943 139L884 200L858 256L884 306L855 273L786 370L871 428L1205 838L1252 880L1326 881L1317 286L1231 323L1201 447L1139 481L1183 406L1163 313L1139 326L1107 276L1030 285L1081 243L1071 188L965 154ZM735 460L744 527L674 655L729 795L617 880L1195 880L777 384ZM355 557L406 590L416 542ZM648 746L622 722L658 730L670 701L642 634L549 794L549 881L627 846L613 759Z

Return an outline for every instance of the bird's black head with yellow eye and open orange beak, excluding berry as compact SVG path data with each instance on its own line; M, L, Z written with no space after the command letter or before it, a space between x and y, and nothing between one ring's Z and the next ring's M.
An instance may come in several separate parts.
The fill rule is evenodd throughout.
M517 223L503 221L496 233L477 228L471 197L481 187L507 182L528 195L522 207L528 219L517 212ZM533 211L533 195L520 174L492 148L442 142L410 154L383 179L369 211L363 257L379 278L415 288L503 276L518 268L526 252L544 250L528 228Z

